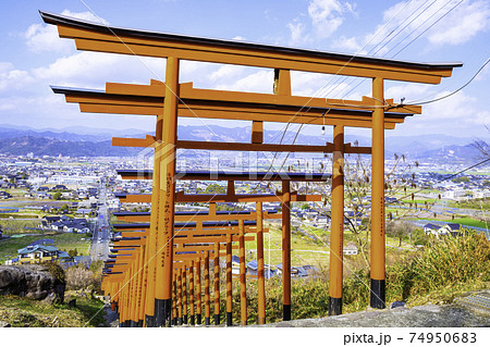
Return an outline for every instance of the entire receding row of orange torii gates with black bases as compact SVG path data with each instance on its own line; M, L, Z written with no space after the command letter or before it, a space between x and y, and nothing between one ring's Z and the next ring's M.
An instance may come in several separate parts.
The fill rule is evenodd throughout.
M40 12L57 25L61 38L74 39L79 50L166 59L166 80L149 85L107 83L94 91L53 87L82 112L138 114L156 117L156 136L113 138L114 146L155 148L154 170L121 171L127 179L152 179L151 195L121 195L122 202L150 202L150 213L118 213L128 224L114 225L123 237L114 240L106 263L102 288L118 308L121 326L170 326L175 323L210 324L210 263L212 261L215 323L220 324L220 258L225 259L226 324L233 323L231 257L240 257L240 323L247 323L245 241L257 244L258 322L266 323L264 220L282 220L283 320L291 319L290 206L319 201L318 195L291 191L291 182L331 182L331 241L329 314L342 313L344 153L371 154L370 306L384 302L384 129L405 117L420 114L421 107L394 103L384 98L384 82L439 84L461 63L414 63L371 57L338 54L287 47L226 41L173 34L135 30L84 22ZM273 69L272 94L194 88L180 83L180 62L191 60ZM163 61L162 61L163 64ZM372 80L371 97L334 100L293 96L291 71L356 76ZM186 141L176 136L177 119L250 121L250 142ZM333 126L333 142L324 146L264 144L264 122ZM344 144L345 127L371 128L371 147ZM333 153L332 175L284 172L176 172L176 149L257 152ZM176 179L228 182L226 194L175 193ZM330 181L331 179L331 181ZM234 182L277 181L275 194L235 193ZM264 211L262 202L281 203L281 212ZM201 202L206 212L175 212L181 202ZM255 211L217 211L216 203L250 202ZM203 283L204 282L204 283ZM204 299L201 296L204 287ZM188 318L189 315L189 318ZM188 318L188 319L187 319Z

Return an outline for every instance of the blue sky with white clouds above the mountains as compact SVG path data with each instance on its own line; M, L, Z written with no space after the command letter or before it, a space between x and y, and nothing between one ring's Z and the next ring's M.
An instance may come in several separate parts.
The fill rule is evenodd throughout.
M387 83L387 98L426 101L464 85L490 57L490 2L407 1L2 1L0 124L35 128L87 126L151 131L147 116L81 114L49 85L103 88L106 82L164 78L164 60L76 51L42 23L38 10L147 30L368 54L408 61L461 61L441 85ZM409 45L408 45L409 44ZM406 47L405 47L406 46ZM402 50L403 49L403 50ZM401 50L401 51L400 51ZM400 51L400 52L399 52ZM271 92L272 71L183 62L181 82L196 87ZM359 99L370 83L294 73L293 94ZM488 138L490 64L458 94L424 107L424 114L387 135L445 134ZM246 123L211 122L225 126ZM180 124L191 124L187 120ZM271 125L269 125L271 126ZM280 128L271 126L272 128ZM318 127L308 126L307 134ZM366 134L351 128L352 134Z

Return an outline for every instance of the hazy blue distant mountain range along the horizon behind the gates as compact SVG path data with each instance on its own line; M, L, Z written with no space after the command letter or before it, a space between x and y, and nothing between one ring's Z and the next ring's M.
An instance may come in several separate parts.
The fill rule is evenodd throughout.
M283 132L265 131L265 142L279 144ZM25 156L70 156L70 157L132 157L137 148L112 147L111 137L145 137L139 129L34 129L12 125L0 125L0 153ZM283 144L292 144L296 132L286 132ZM250 139L250 127L180 126L179 138L200 141L247 142ZM295 144L322 145L332 141L331 136L311 136L299 134ZM370 138L346 135L346 142L357 141L359 146L369 146ZM388 136L385 139L387 159L393 153L405 154L414 160L433 161L475 161L479 151L471 146L475 138L446 135Z

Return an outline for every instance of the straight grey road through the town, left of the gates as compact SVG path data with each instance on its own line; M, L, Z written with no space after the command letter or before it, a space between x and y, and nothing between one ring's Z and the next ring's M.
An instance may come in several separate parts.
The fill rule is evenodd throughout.
M99 215L96 221L94 236L91 238L90 258L93 260L106 260L109 255L110 243L110 227L109 227L109 213L106 205L107 191L106 181L100 179L99 189Z

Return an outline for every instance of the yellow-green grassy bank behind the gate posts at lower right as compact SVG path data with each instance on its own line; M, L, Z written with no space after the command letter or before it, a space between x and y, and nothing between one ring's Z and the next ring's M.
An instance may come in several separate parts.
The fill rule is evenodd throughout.
M483 235L432 239L424 250L399 252L388 259L388 305L395 300L405 301L408 307L428 302L448 303L465 292L490 287L490 243ZM238 285L234 284L233 289L233 306L240 308ZM292 281L292 319L328 315L328 290L327 272L317 278ZM249 324L257 323L257 283L249 281L247 283ZM359 267L344 276L343 312L365 310L368 305L369 272L368 269ZM224 311L223 305L221 312ZM281 320L280 278L266 281L266 312L268 323ZM236 315L240 314L235 313L236 322L240 323L240 317Z

